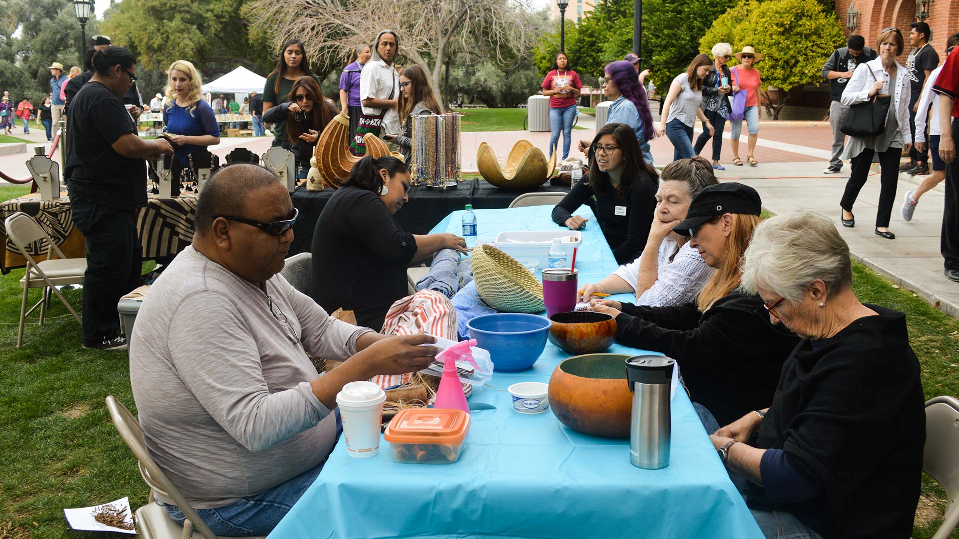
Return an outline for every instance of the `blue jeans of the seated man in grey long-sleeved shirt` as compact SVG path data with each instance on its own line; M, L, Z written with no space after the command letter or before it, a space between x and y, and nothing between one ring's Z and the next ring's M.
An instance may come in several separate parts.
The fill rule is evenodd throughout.
M339 440L339 434L343 432L339 408L334 409L333 413L337 417L337 439ZM296 501L303 496L306 489L316 481L316 476L319 475L325 463L324 458L313 468L256 496L247 496L235 504L223 507L197 509L197 514L214 533L220 536L267 535L290 512L293 504L296 504ZM170 518L182 526L183 521L186 520L183 511L172 504L163 504L163 507L170 514ZM198 533L194 534L199 536Z

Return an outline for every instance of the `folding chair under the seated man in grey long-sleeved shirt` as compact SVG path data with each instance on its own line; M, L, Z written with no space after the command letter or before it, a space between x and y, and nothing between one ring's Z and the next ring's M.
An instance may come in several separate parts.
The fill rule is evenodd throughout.
M146 505L137 509L135 513L136 532L143 539L188 539L193 535L196 528L205 539L231 539L218 537L199 517L193 505L183 498L174 484L163 474L160 467L147 453L147 444L143 441L143 430L140 429L140 422L133 417L127 407L113 395L108 395L106 397L106 410L109 410L110 419L113 420L117 432L120 433L123 440L127 442L130 451L136 456L140 476L150 486L150 500ZM174 504L183 511L183 514L186 515L183 526L176 524L174 519L170 518L167 510L155 503L154 492L173 500ZM260 536L259 539L263 539L263 536Z

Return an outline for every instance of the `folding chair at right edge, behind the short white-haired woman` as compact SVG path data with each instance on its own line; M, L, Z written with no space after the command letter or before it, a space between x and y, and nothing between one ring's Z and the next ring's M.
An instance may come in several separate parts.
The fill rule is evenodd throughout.
M959 400L954 397L925 403L923 471L946 489L946 517L932 539L947 539L959 525Z

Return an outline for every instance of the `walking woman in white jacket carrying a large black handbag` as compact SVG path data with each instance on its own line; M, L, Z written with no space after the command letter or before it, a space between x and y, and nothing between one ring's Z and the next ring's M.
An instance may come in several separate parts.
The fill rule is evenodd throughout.
M843 152L843 159L852 159L852 175L846 183L839 205L842 207L843 226L854 226L853 204L859 190L866 184L873 156L878 153L881 174L881 191L876 213L876 234L887 240L896 235L889 231L889 217L896 202L896 186L899 181L899 165L902 152L912 148L912 135L909 132L909 83L905 68L896 61L902 52L904 42L897 28L886 28L879 33L877 50L879 58L860 65L842 94L842 104L860 107L862 114L854 114L853 109L843 123L843 132L862 132L864 126L855 122L868 118L869 113L888 106L883 129L876 135L851 134ZM888 101L888 105L884 102ZM854 125L856 124L856 125ZM867 129L868 130L868 129Z

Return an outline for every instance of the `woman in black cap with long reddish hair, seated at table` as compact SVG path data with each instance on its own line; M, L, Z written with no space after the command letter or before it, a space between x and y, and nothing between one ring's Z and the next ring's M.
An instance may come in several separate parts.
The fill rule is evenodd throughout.
M617 341L676 360L692 401L720 425L772 403L783 363L799 342L769 321L759 295L737 292L739 260L760 211L759 193L736 182L707 187L692 199L673 230L689 235L690 246L716 269L695 300L675 307L591 301L597 312L616 317Z

